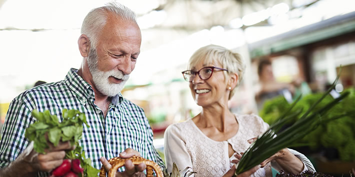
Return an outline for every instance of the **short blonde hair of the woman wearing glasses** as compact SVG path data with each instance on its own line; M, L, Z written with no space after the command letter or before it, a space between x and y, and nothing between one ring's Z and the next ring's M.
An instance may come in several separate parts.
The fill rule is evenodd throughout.
M241 55L239 53L232 52L223 46L210 44L199 48L190 57L187 63L187 69L191 69L201 61L205 64L213 64L216 62L221 64L223 68L228 70L228 73L224 72L224 78L227 78L229 73L237 73L237 86L243 79L245 63L241 58ZM227 82L226 79L225 82ZM230 91L228 99L234 95L235 91L235 88Z

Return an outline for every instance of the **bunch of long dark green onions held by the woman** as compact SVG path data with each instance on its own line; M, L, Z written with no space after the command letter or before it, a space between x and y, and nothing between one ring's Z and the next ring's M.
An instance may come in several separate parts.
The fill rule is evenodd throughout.
M317 99L312 106L309 107L307 111L302 113L302 109L294 109L294 106L299 101L300 96L291 104L286 111L281 114L277 120L270 125L270 127L260 135L245 151L244 155L241 157L237 164L235 174L240 174L258 164L260 164L266 158L272 156L277 151L285 148L287 146L295 146L301 144L295 144L295 142L301 139L303 136L307 135L313 131L318 125L325 124L328 121L346 116L355 115L354 111L339 111L337 115L325 116L328 111L336 105L340 100L345 98L349 92L342 93L339 97L333 99L332 101L326 103L323 106L315 107L319 104L324 97L335 87L339 76L335 79L332 86L322 94L322 96ZM302 114L301 114L302 113ZM291 121L297 119L291 126L280 130L281 127ZM277 135L276 135L277 133Z

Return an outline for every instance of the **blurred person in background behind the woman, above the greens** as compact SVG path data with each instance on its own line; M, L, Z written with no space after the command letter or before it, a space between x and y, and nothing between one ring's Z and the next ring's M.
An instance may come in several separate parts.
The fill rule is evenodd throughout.
M260 90L255 94L255 100L258 110L262 109L266 100L275 96L283 95L284 98L291 103L301 93L307 94L311 92L308 84L299 77L295 78L290 83L277 81L272 71L271 61L267 59L261 59L257 69Z

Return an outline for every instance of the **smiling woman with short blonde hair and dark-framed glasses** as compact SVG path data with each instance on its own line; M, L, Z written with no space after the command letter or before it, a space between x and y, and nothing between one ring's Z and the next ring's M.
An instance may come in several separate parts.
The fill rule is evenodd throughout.
M232 113L228 100L243 78L245 64L238 53L218 45L204 46L191 56L183 76L189 82L192 97L202 107L195 117L171 124L165 131L165 161L168 172L176 162L187 166L196 176L228 176L250 143L269 125L255 114ZM255 176L272 176L277 170L300 173L313 170L301 153L284 148L266 159ZM232 171L232 172L231 172Z

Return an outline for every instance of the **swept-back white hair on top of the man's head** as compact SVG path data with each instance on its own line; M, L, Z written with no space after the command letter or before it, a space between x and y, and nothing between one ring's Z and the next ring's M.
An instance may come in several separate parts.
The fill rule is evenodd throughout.
M109 15L115 15L122 20L130 20L135 23L136 14L134 11L116 2L107 3L105 6L92 9L84 18L81 33L89 37L90 46L96 48L99 34L107 22Z

